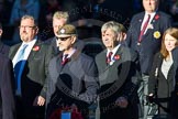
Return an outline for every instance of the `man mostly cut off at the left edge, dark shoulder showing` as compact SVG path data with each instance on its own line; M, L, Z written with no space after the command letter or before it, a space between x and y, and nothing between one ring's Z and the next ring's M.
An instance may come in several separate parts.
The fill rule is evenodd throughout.
M2 41L1 41L2 32L3 32L2 31L2 24L0 23L0 53L8 56L10 47L2 43Z

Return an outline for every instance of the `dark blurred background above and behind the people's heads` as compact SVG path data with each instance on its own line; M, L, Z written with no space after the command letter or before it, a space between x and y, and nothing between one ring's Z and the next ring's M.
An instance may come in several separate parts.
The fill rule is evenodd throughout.
M178 25L178 0L160 0L159 9L173 15L174 25ZM118 21L127 29L132 15L143 8L142 0L0 0L2 41L9 45L18 42L16 28L25 13L35 15L42 40L53 36L52 17L57 10L68 11L79 39L90 42L100 39L100 26L107 21Z

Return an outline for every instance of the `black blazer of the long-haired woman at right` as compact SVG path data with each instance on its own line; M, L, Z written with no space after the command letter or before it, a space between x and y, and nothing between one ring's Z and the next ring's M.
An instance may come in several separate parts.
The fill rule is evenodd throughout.
M163 55L160 53L157 53L154 57L154 62L149 73L148 94L155 94L158 98L168 98L174 91L174 66L170 66L166 79L162 72L163 61Z

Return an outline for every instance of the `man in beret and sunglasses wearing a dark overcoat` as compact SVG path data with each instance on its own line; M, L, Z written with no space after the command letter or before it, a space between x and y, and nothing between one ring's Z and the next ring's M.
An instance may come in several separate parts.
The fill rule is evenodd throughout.
M57 33L57 44L62 53L52 58L48 65L47 119L58 119L63 109L70 108L77 108L81 112L81 116L77 115L75 118L71 115L71 119L88 119L88 106L97 96L94 62L74 46L76 40L76 28L71 24L64 25Z

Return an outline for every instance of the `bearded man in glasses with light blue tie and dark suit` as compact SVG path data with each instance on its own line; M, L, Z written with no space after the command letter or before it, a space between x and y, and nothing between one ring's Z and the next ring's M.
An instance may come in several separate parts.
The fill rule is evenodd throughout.
M45 102L45 78L52 46L37 37L37 25L31 15L24 15L20 23L22 43L10 48L15 74L15 99L18 119L43 118Z

